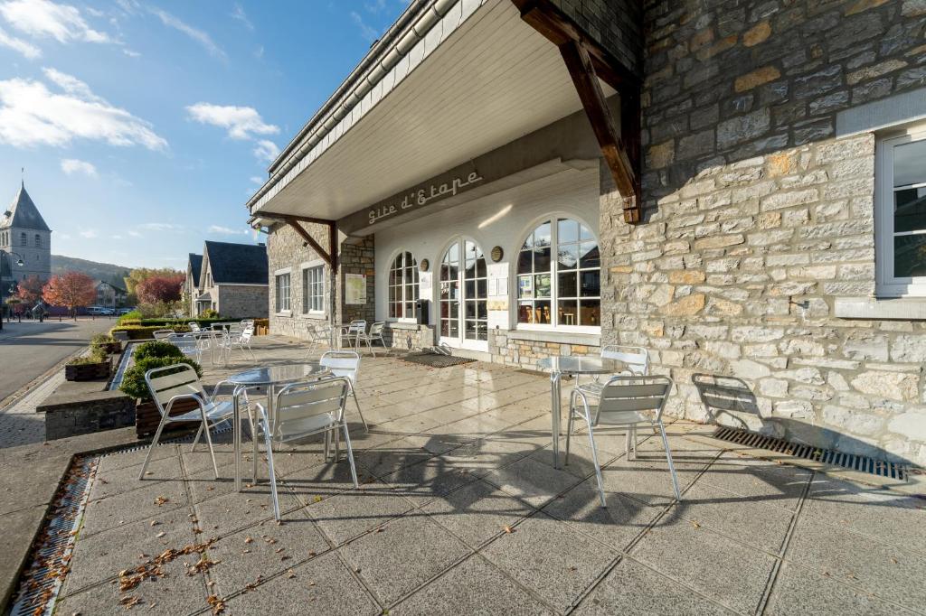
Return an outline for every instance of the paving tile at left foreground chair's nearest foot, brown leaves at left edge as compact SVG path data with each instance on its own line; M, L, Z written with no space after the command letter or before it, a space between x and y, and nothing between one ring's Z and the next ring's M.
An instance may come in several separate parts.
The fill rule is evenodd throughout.
M328 548L305 509L282 516L282 524L274 520L255 524L209 547L209 557L218 562L209 570L217 584L213 592L228 597L258 576L268 578L287 571Z

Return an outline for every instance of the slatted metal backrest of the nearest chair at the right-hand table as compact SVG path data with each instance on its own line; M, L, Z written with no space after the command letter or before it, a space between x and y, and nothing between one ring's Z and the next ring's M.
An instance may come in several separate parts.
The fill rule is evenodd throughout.
M639 413L656 413L659 421L669 398L672 379L668 376L613 376L601 389L598 421L626 424L639 421Z

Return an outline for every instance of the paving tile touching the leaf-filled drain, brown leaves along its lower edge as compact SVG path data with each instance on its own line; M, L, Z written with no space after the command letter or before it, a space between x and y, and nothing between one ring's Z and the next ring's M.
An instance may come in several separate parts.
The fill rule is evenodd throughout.
M62 594L110 579L123 569L142 564L165 549L194 541L194 524L185 509L171 511L151 522L135 522L96 535L79 534L74 542L71 571Z

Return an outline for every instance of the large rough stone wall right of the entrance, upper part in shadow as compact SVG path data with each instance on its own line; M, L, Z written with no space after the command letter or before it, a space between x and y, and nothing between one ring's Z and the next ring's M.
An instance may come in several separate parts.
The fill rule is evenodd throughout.
M656 351L669 413L926 462L926 324L833 313L875 281L875 138L836 140L835 115L924 85L926 4L644 11L644 223L602 173L603 343ZM750 393L708 411L697 374Z

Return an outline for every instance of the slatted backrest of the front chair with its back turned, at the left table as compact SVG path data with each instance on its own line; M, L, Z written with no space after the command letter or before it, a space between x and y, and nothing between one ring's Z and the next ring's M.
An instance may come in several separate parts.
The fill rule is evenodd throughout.
M282 388L273 404L271 437L278 441L306 437L340 422L349 390L343 376Z

